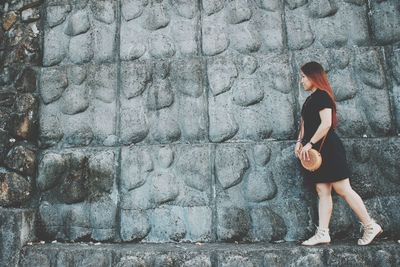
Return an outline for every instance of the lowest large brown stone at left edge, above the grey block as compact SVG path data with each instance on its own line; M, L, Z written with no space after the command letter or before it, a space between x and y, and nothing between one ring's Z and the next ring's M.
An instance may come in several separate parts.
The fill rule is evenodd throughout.
M32 197L31 182L15 173L0 172L0 206L19 207Z

